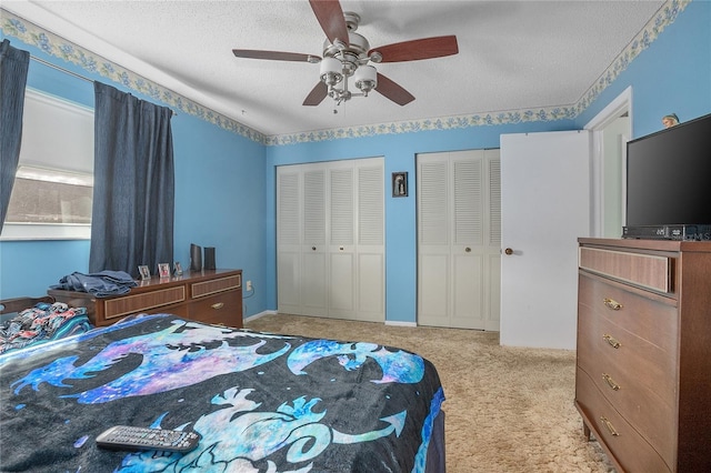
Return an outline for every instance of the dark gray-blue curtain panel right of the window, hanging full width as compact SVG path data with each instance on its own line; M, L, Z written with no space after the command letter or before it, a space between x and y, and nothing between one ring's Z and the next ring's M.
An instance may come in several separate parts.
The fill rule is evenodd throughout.
M94 184L89 271L173 261L172 111L94 82Z

